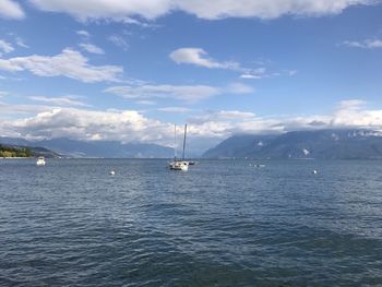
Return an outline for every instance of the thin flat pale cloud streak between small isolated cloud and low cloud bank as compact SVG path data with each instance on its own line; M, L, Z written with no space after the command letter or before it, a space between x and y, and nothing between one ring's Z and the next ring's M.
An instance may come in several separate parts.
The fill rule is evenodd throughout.
M234 83L227 87L208 85L153 85L143 83L139 85L112 86L106 88L105 92L130 99L170 98L193 104L224 93L251 93L253 88L240 83Z

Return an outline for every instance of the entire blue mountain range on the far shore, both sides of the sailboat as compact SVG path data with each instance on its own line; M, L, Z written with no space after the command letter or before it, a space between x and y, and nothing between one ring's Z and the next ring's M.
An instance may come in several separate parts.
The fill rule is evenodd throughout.
M170 158L174 150L157 144L76 141L65 137L27 141L0 137L0 144L27 146L47 157ZM43 155L41 154L41 155ZM240 134L206 151L203 158L382 159L382 132L365 129Z

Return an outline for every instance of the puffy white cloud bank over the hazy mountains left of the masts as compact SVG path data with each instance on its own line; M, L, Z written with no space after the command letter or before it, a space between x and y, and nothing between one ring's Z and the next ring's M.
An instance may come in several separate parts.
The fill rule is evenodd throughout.
M26 139L65 136L76 140L97 139L163 144L169 144L171 139L171 124L147 119L134 110L96 111L55 108L38 112L34 117L5 120L1 123L3 130L12 129L15 135ZM10 134L9 130L7 134Z

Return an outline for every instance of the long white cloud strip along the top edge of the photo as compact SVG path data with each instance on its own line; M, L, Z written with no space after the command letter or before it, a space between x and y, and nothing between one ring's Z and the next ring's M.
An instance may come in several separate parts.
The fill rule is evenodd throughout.
M357 4L372 4L374 0L29 0L45 11L64 12L86 21L129 16L153 20L172 11L183 11L201 19L226 17L276 19L283 15L320 16L338 14Z

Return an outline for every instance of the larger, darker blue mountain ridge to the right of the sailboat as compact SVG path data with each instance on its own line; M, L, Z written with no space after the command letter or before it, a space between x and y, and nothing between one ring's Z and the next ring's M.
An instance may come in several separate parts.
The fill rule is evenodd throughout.
M382 158L382 133L370 130L296 131L280 135L235 135L204 153L205 158Z

